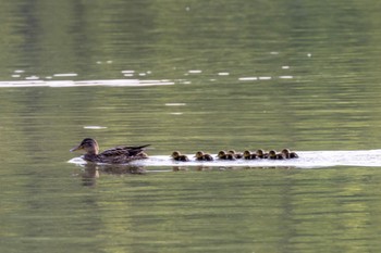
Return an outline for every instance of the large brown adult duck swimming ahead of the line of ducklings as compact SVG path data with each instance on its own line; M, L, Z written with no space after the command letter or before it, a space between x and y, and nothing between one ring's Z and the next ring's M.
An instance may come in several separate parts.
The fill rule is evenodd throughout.
M112 149L105 150L99 153L99 146L95 139L86 138L77 147L70 151L84 150L85 154L83 159L93 163L108 163L108 164L123 164L130 163L134 160L148 159L148 155L144 153L146 146L121 146Z

